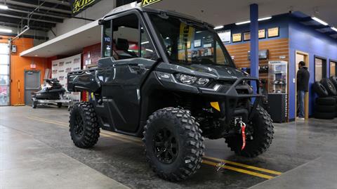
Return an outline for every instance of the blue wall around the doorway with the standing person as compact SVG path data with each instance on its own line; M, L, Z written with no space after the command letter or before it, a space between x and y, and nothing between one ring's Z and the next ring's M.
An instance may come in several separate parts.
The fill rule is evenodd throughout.
M289 79L296 77L295 73L295 51L303 51L309 53L309 71L310 71L310 86L315 82L315 56L327 58L329 60L337 60L337 41L331 37L313 30L311 27L302 25L294 20L289 21ZM329 66L327 67L327 74L329 74ZM290 88L295 88L295 84L290 82ZM289 93L290 118L295 118L295 92L294 90ZM314 102L316 95L310 87L310 115L314 112Z

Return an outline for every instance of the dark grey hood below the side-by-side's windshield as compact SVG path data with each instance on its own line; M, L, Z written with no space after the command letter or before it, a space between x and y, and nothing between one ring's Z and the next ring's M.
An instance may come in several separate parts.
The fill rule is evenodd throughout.
M179 65L180 67L185 67L188 70L192 70L191 74L211 74L216 79L237 79L240 77L246 77L246 75L237 70L235 67L225 66L225 65Z

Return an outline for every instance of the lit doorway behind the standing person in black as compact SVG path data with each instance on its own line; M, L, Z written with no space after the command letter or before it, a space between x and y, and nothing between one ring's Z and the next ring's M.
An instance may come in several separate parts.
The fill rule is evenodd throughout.
M297 112L298 112L298 105L297 105L297 71L298 71L298 63L300 61L305 62L305 66L308 67L309 70L309 53L305 53L302 51L296 51L296 57L295 57L295 93L296 93L296 98L295 98L295 110L296 110L296 116L297 117ZM309 93L305 93L305 99L304 99L304 118L309 119Z

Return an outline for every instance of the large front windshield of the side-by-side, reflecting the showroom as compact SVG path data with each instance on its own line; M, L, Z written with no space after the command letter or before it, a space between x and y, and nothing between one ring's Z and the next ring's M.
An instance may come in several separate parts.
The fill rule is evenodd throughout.
M150 19L171 62L234 67L218 34L206 25L156 13L150 13Z

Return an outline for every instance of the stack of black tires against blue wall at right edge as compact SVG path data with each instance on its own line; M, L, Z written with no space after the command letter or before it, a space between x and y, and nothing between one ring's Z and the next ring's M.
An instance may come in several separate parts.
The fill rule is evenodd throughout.
M324 78L315 82L314 91L319 96L315 100L315 115L317 119L333 119L337 117L337 77Z

